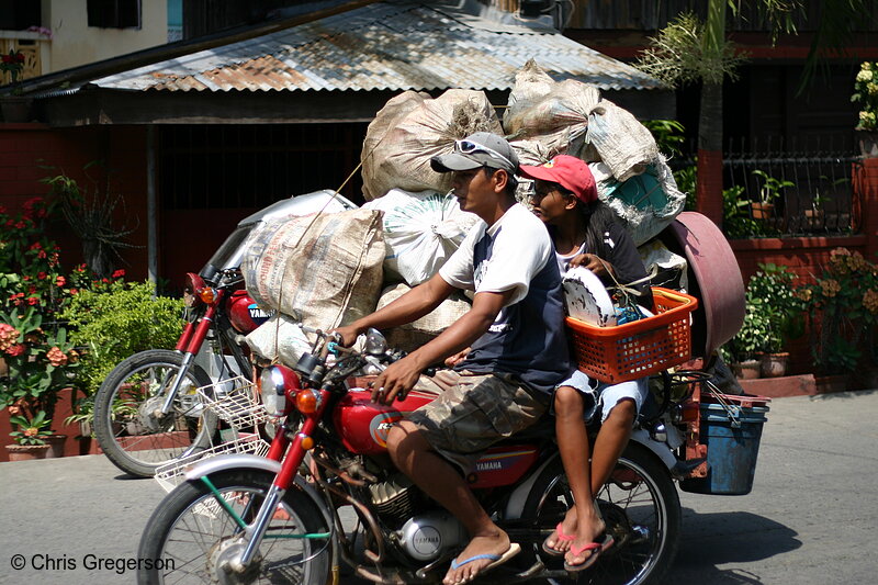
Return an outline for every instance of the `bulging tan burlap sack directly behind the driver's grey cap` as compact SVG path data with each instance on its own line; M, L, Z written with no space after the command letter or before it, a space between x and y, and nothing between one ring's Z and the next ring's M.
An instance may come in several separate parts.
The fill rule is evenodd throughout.
M503 134L494 106L483 91L450 89L435 100L424 100L397 124L389 127L365 160L364 193L380 196L391 189L403 191L451 189L451 173L430 168L430 158L454 149L454 140L474 132Z

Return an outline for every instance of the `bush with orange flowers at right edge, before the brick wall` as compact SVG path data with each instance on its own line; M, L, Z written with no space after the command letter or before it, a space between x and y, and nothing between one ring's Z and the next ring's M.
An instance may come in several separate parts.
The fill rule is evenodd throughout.
M858 251L836 248L815 282L799 288L796 294L810 314L818 374L849 379L855 371L874 365L863 348L871 346L878 323L875 263ZM864 345L864 340L868 344Z

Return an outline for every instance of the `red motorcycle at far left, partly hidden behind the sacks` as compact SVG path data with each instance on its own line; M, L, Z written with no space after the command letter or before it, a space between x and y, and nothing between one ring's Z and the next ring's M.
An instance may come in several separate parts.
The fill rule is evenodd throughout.
M272 217L305 215L327 205L356 207L326 190L279 201L241 220L204 268L187 274L187 325L176 348L127 358L94 396L94 435L119 469L153 476L160 465L211 445L217 418L202 407L195 391L232 376L249 378L244 336L271 316L244 290L240 261L247 237Z

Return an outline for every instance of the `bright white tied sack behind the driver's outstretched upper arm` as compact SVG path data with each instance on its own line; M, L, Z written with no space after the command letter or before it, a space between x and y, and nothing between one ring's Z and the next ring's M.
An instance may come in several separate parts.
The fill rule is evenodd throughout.
M416 286L436 274L479 222L458 200L436 191L393 189L363 209L384 213L385 280Z

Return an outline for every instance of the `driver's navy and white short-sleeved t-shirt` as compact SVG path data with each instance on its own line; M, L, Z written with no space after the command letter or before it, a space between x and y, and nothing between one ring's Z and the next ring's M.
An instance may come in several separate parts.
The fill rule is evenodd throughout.
M516 204L494 225L480 223L439 274L476 294L515 290L455 369L516 374L529 389L551 395L572 368L561 275L543 223Z

